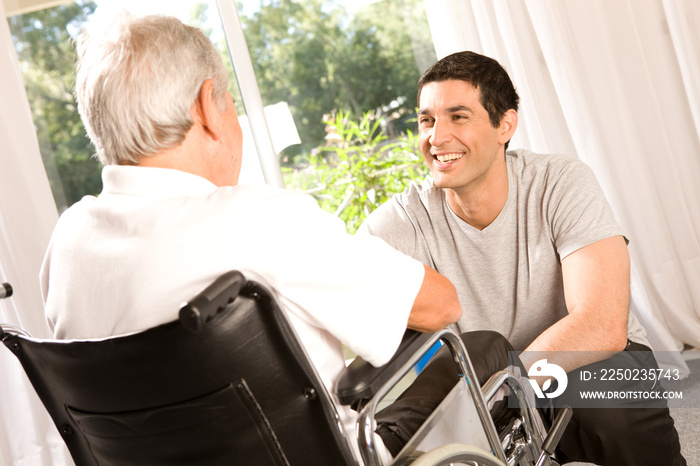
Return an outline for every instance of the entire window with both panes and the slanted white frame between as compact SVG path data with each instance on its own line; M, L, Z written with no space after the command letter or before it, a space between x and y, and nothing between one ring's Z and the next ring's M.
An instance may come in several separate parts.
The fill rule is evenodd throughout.
M177 16L217 45L248 133L241 182L263 179L251 130L265 124L271 149L261 153L281 165L286 185L314 195L349 231L393 192L426 175L415 147L415 84L435 53L422 0L236 4L259 95L254 86L244 95L238 89L233 69L239 72L238 61L247 57L231 66L215 0L78 0L8 18L59 211L101 190L100 166L72 95L71 38L96 10L111 8ZM255 128L245 117L252 109L242 104L255 100L252 94L262 97L265 115L261 123L251 113Z

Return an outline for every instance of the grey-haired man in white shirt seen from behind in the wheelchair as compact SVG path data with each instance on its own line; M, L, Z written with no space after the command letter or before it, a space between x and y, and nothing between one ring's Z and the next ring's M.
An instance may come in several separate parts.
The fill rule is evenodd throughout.
M78 43L78 108L104 189L60 218L41 284L57 338L177 319L232 269L268 285L333 393L341 342L380 366L405 329L461 315L443 276L348 235L301 194L239 186L241 128L212 43L175 18L117 18ZM337 406L354 438L356 413ZM352 442L355 445L355 442Z

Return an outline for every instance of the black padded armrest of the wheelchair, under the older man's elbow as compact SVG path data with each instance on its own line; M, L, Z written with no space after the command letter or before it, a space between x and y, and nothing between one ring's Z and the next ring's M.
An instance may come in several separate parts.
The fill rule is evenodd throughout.
M431 333L406 330L396 353L381 367L357 357L340 374L335 393L343 405L359 411L430 338Z

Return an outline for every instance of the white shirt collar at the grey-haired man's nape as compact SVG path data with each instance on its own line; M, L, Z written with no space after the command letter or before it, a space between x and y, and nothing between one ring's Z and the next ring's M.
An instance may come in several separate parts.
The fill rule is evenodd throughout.
M217 186L201 176L170 168L107 165L102 169L102 195L148 197L205 195Z

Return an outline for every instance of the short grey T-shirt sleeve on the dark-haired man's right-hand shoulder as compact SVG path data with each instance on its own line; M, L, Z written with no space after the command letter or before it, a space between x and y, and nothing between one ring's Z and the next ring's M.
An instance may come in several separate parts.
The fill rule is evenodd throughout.
M560 260L584 246L623 235L593 171L578 160L562 164L548 189L547 217Z

